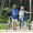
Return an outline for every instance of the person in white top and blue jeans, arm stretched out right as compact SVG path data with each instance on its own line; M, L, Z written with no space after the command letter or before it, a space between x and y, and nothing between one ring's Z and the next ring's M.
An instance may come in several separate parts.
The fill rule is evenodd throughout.
M30 13L30 12L24 11L24 7L21 7L21 10L19 11L20 29L24 28L24 12Z

